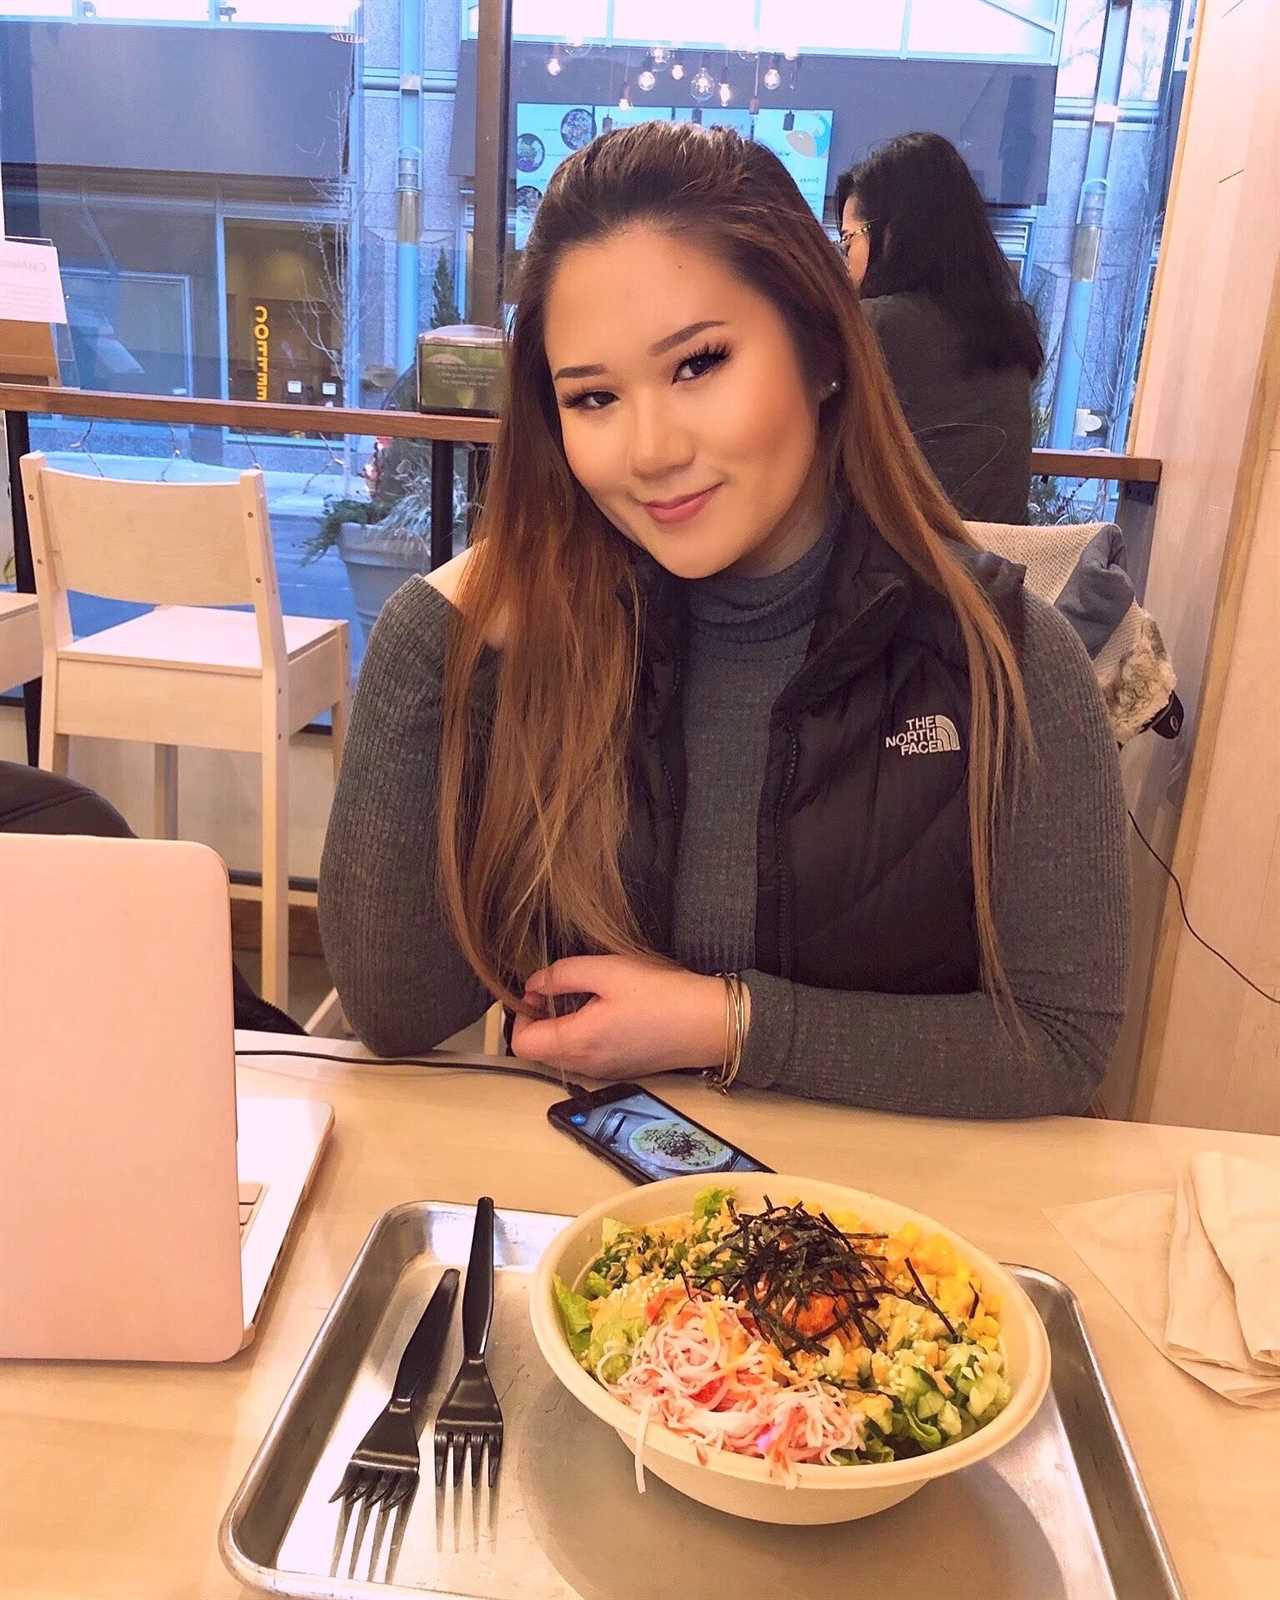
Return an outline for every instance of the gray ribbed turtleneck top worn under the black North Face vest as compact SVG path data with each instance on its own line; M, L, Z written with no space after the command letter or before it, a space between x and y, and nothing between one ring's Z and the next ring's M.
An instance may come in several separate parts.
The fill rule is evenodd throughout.
M981 992L814 989L752 966L770 712L803 661L829 555L824 538L774 576L688 586L688 798L670 954L694 971L746 976L742 1085L952 1117L1080 1112L1123 1016L1125 813L1085 650L1030 597L1022 672L1038 762L1019 787L994 885L1030 1050ZM347 1018L381 1054L427 1050L490 1003L435 891L432 802L450 616L450 602L421 578L382 610L320 869L325 954Z

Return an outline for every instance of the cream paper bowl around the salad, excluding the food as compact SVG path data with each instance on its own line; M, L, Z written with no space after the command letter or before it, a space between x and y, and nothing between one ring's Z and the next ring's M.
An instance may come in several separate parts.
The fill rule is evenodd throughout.
M624 1400L579 1366L562 1322L555 1282L558 1278L570 1286L581 1282L600 1256L605 1219L638 1226L688 1214L694 1198L717 1178L720 1186L731 1192L739 1211L750 1211L770 1202L782 1205L800 1202L829 1214L858 1216L861 1227L875 1232L891 1234L914 1222L922 1234L941 1234L981 1283L982 1294L998 1296L1000 1350L1005 1358L1005 1378L1011 1387L1005 1408L974 1434L955 1438L926 1454L854 1466L802 1462L794 1467L789 1482L779 1480L758 1456L699 1450L693 1440L656 1421L645 1422ZM547 1246L530 1286L530 1310L534 1339L552 1373L594 1416L614 1427L632 1453L642 1450L646 1472L653 1472L702 1506L754 1522L816 1525L851 1522L886 1510L933 1478L963 1472L965 1467L984 1461L1008 1445L1032 1421L1050 1382L1050 1342L1045 1326L1026 1291L1005 1267L960 1234L920 1211L880 1195L811 1178L774 1173L699 1173L614 1195L584 1211ZM643 1446L640 1446L642 1427Z

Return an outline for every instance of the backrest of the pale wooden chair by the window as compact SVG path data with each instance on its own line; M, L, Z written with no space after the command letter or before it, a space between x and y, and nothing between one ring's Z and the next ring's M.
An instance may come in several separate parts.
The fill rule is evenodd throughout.
M70 642L66 594L141 605L253 605L262 661L283 629L262 474L210 483L149 483L58 472L22 458L35 587L54 638ZM43 621L43 616L42 616Z

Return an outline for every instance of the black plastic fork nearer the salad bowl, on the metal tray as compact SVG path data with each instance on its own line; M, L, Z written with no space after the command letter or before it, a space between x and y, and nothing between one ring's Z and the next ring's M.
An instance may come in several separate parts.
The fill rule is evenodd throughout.
M462 1365L435 1418L437 1488L443 1488L450 1454L454 1488L461 1486L462 1464L470 1451L470 1483L472 1490L477 1490L485 1450L490 1453L490 1490L498 1483L498 1467L502 1461L502 1410L485 1366L491 1326L493 1200L485 1197L475 1206L467 1285L462 1290Z

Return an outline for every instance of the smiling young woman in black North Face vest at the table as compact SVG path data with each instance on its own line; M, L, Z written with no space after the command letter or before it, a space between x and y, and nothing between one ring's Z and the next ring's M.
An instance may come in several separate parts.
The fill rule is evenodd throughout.
M971 549L782 165L678 123L565 162L475 542L365 658L320 875L357 1032L496 995L574 1075L1080 1110L1122 818L1083 648Z

